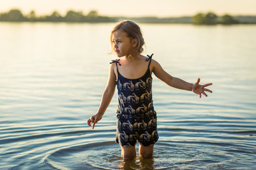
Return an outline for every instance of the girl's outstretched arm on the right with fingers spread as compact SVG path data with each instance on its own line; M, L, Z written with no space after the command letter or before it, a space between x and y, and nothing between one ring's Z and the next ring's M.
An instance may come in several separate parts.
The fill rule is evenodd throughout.
M156 75L157 78L159 78L161 81L164 81L166 84L176 89L193 91L193 93L198 94L200 98L201 98L201 94L203 94L204 96L207 96L205 91L213 93L213 91L210 91L209 89L205 89L206 86L212 85L211 83L200 85L199 84L200 79L198 78L195 84L191 84L186 81L183 81L182 79L178 79L177 77L172 77L170 74L165 72L164 69L161 67L161 65L155 60L152 60L151 67L152 67L152 72Z

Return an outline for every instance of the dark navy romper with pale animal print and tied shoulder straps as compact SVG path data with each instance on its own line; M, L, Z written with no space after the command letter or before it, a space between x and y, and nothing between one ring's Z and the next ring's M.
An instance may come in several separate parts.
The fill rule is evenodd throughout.
M151 57L146 59L151 63ZM119 60L112 60L116 65ZM112 63L111 62L111 63ZM121 67L121 64L119 64ZM117 137L122 147L133 147L137 140L139 144L147 147L153 145L159 136L156 130L156 111L152 101L152 77L150 69L139 79L122 77L117 67Z

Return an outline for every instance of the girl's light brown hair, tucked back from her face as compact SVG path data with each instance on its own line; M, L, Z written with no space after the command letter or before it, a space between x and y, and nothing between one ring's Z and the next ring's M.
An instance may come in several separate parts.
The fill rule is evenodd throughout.
M145 44L144 42L144 38L142 37L142 31L139 28L139 26L137 25L137 23L134 23L132 21L129 20L125 20L125 21L121 21L119 23L117 23L116 26L114 26L113 30L111 31L110 34L110 42L111 42L111 52L110 54L113 54L113 43L112 43L112 37L113 37L113 33L117 30L122 30L125 33L127 33L129 38L136 38L138 40L137 43L137 51L139 53L143 52L143 45Z

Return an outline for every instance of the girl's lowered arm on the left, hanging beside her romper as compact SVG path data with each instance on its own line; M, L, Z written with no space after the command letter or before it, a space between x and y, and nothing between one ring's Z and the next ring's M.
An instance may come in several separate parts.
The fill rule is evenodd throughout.
M107 107L110 105L110 101L114 96L114 89L116 86L116 76L114 74L115 64L110 65L110 74L109 79L107 81L107 86L105 91L102 94L102 100L100 103L100 108L98 109L95 115L92 115L90 119L87 120L87 125L91 126L91 123L97 123L99 120L102 119L102 115L104 115Z

